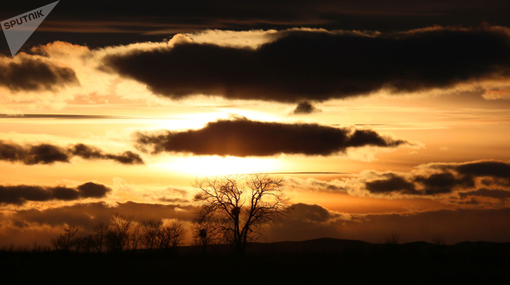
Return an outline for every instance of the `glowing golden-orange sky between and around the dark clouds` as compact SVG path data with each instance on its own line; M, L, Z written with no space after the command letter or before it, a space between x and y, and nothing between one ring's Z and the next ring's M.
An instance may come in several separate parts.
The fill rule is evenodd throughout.
M399 94L393 94L389 90L379 90L370 95L317 101L313 104L320 111L296 115L293 114L296 104L288 102L227 99L210 96L210 94L170 99L155 94L143 82L97 68L103 56L124 54L134 48L152 50L167 45L171 47L183 41L208 42L221 46L236 46L242 42L243 45L254 48L267 41L267 34L270 33L245 31L222 34L209 31L194 35L176 35L168 42L140 42L128 46L119 45L98 49L67 42L54 42L40 46L39 48L46 54L43 60L57 66L72 68L79 85L35 91L13 90L0 85L0 92L3 94L0 97L0 113L5 114L0 117L1 140L20 145L50 143L62 147L84 143L108 153L130 150L140 154L144 164L124 165L111 160L87 160L80 157L71 158L69 163L35 165L0 161L0 182L3 186L23 184L75 187L90 181L112 189L104 197L84 198L80 201L0 203L0 215L2 215L0 244L12 243L20 237L24 237L21 240L27 243L30 239L47 242L46 239L51 233L58 232L64 225L71 223L71 220L46 221L48 215L45 213L49 212L44 211L58 210L64 206L79 203L103 201L107 208L115 208L119 205L117 203L133 201L187 209L186 207L192 204L191 199L195 190L191 184L194 179L221 174L285 173L274 175L286 178L288 185L286 191L294 203L319 205L327 209L330 215L325 220L317 221L317 227L312 227L315 230L301 236L299 233L285 236L276 232L274 228L270 229L269 240L300 240L325 235L377 241L388 234L384 225L391 225L388 228L394 227L398 230L399 221L380 218L379 224L367 222L367 227L360 229L359 227L363 228L361 225L364 219L374 221L375 218L370 218L369 215L388 217L387 219L394 215L402 215L402 219L406 219L422 217L420 213L432 215L432 213L442 213L441 211L452 211L457 215L464 213L462 211L468 211L466 213L469 215L466 214L466 219L475 221L479 218L483 223L485 214L476 216L469 211L506 211L508 200L505 198L480 196L475 198L476 203L467 203L469 199L458 198L457 192L481 188L481 179L490 175L477 176L476 186L469 189L455 188L451 193L431 196L413 196L402 192L380 194L370 192L364 187L367 182L384 177L381 173L389 171L399 173L408 179L414 179L410 177L419 175L429 175L436 171L423 166L429 163L510 161L508 148L510 145L508 135L510 134L510 100L508 99L510 97L504 94L505 89L499 93L491 91L497 91L506 86L507 80L470 81L448 88ZM1 57L0 62L8 64L21 60L23 57L42 58L22 52L14 59ZM28 116L31 114L46 116ZM89 117L56 116L69 114ZM345 152L327 156L282 153L268 157L221 157L179 152L152 154L137 147L134 136L136 132L152 132L160 129L173 132L201 129L208 122L232 119L235 116L243 116L252 121L286 124L318 123L339 128L372 129L382 136L405 140L409 143L397 147L348 147ZM293 174L293 172L334 173ZM327 185L336 185L338 189L328 189ZM176 189L181 191L175 191ZM508 190L508 185L501 184L497 189ZM163 198L182 200L165 202ZM134 211L151 211L147 209ZM41 219L21 215L25 213L21 211L30 210L42 211ZM79 210L73 211L79 213ZM146 213L133 214L144 217ZM494 226L490 230L500 226L500 222L505 221L507 217L506 212L491 215L488 219L491 219ZM497 216L497 219L493 216ZM466 235L463 237L455 235L454 231L449 231L444 224L437 229L432 229L431 225L436 223L436 219L448 218L430 217L419 220L423 223L423 228L431 228L426 233L428 236L424 234L423 240L429 240L437 230L444 230L450 242L477 238L495 241L504 239L502 234L477 236L476 232L467 229L460 231ZM462 220L462 215L457 218ZM166 219L181 218L169 214ZM189 222L187 218L182 219ZM26 223L25 226L20 227L16 223L21 220ZM304 231L312 222L304 219L299 223ZM407 222L401 223L402 239L405 241L419 239L416 235L409 234L405 228L406 224ZM85 224L80 226L83 230L88 230ZM279 226L282 229L286 228L282 224ZM455 224L451 226L454 227ZM370 228L372 231L369 230ZM508 229L507 226L506 229Z

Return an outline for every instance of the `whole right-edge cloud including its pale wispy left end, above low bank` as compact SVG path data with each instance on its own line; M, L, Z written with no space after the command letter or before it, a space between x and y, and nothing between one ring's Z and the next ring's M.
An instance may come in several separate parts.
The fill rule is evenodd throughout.
M463 199L477 196L505 202L510 196L509 167L509 162L496 160L429 163L415 166L409 172L364 170L356 174L344 173L331 180L286 177L286 185L291 190L349 194L360 198L427 198L458 204ZM497 202L483 199L478 204L501 206Z

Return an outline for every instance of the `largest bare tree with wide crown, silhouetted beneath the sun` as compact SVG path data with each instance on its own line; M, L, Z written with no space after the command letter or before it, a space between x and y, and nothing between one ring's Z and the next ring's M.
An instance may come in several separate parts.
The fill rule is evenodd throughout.
M217 230L241 255L264 224L290 208L283 179L267 174L204 178L193 186L199 190L194 197L199 206L197 220L216 221Z

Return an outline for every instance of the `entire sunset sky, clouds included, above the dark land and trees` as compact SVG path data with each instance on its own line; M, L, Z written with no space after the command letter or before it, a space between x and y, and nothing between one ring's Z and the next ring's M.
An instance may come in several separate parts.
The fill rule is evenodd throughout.
M196 179L249 173L294 204L264 242L508 242L508 5L62 0L0 41L0 245L189 227Z

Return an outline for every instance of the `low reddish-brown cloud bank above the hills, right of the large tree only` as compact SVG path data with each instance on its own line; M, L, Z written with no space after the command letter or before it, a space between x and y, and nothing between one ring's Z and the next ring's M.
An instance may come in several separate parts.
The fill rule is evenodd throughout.
M428 241L440 235L448 244L506 242L510 209L456 209L402 214L342 215L320 205L296 204L285 218L266 229L270 241L341 238L384 242L392 232L401 242Z

